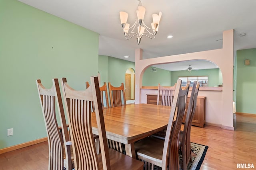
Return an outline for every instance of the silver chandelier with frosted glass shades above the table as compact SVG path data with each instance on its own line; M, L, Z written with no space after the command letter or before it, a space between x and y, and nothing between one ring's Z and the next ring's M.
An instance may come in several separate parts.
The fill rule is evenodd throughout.
M146 12L146 8L142 6L141 0L138 0L138 1L139 1L138 10L136 10L137 19L134 22L134 24L130 27L130 24L127 23L128 13L126 12L122 12L122 11L120 12L120 20L121 20L122 28L124 31L125 39L131 39L132 37L136 36L137 42L138 44L140 44L140 40L143 35L151 39L154 39L156 37L162 12L159 12L159 14L152 14L153 22L151 23L151 28L150 28L144 23L144 15ZM136 27L138 29L138 32L134 31ZM131 31L129 32L129 30Z

